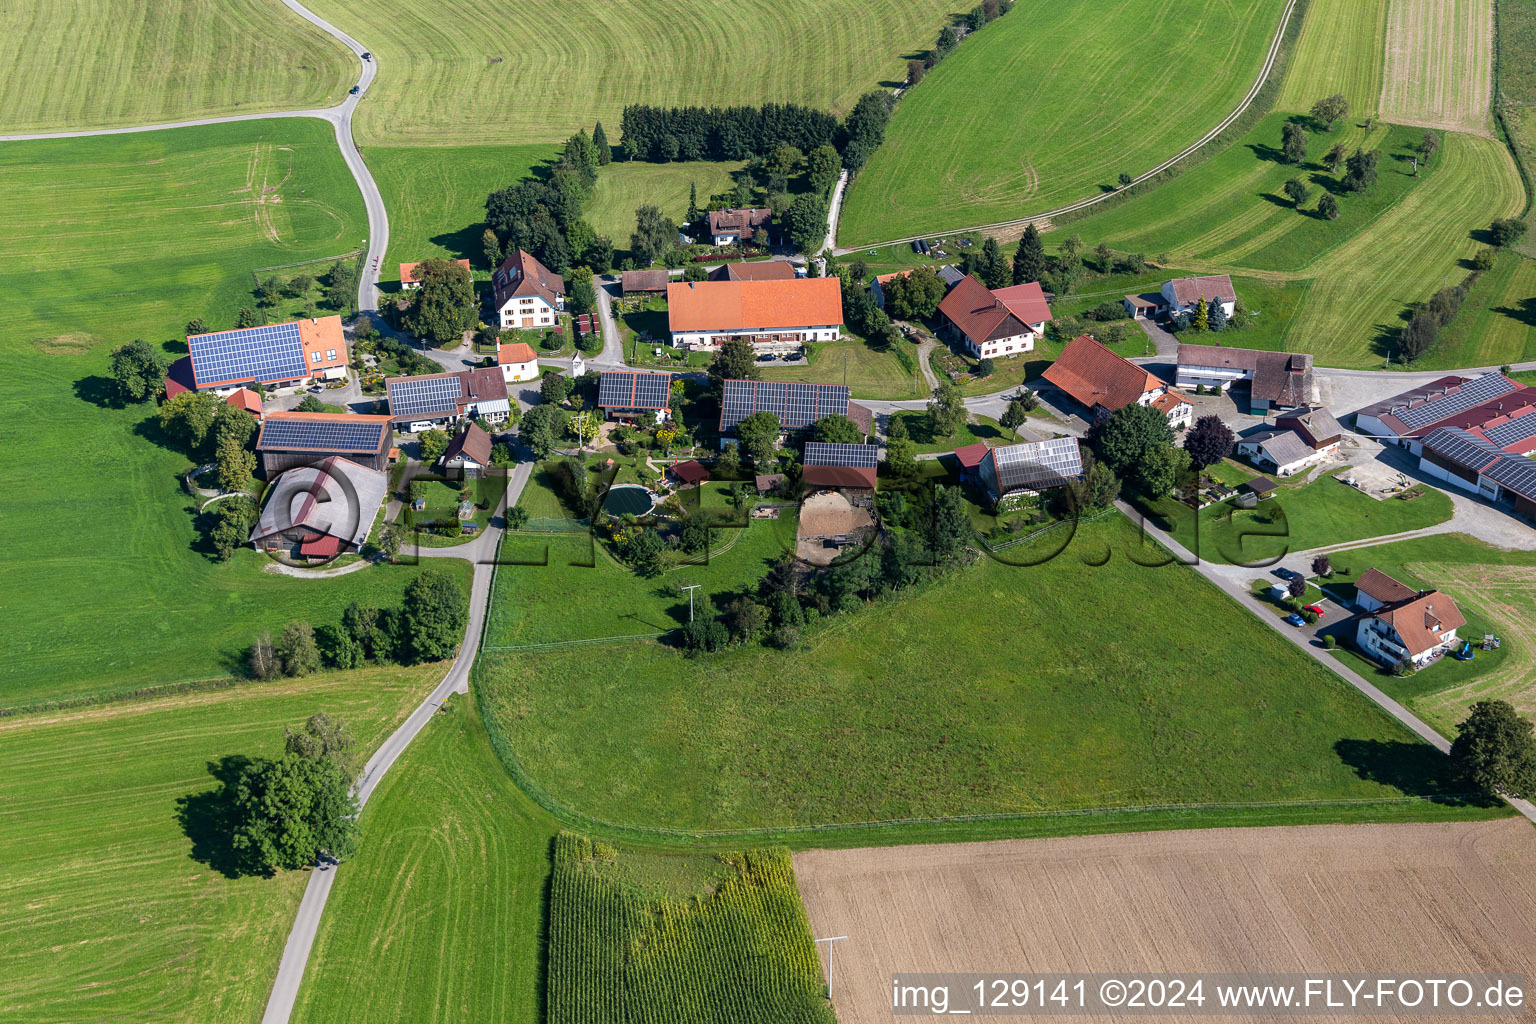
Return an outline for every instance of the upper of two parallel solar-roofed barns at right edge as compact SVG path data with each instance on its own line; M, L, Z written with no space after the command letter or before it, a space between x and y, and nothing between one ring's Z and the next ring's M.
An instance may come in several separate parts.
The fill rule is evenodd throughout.
M1536 387L1516 384L1502 373L1475 378L1445 375L1413 390L1367 405L1355 413L1355 430L1419 454L1419 442L1441 427L1476 430L1507 427L1536 411ZM1501 430L1521 433L1524 428ZM1531 428L1536 431L1536 427ZM1531 434L1527 434L1531 436ZM1502 448L1504 444L1499 442Z

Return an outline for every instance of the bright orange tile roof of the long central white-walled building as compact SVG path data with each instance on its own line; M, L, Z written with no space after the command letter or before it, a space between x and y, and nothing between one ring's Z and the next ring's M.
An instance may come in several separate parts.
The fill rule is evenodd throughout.
M671 330L788 330L843 322L837 278L685 281L667 286Z

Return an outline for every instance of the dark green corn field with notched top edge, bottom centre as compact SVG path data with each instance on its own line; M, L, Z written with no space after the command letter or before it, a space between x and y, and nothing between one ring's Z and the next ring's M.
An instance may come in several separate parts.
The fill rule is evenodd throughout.
M562 834L550 889L550 1024L834 1024L785 851L722 860L713 894L644 897L617 852Z

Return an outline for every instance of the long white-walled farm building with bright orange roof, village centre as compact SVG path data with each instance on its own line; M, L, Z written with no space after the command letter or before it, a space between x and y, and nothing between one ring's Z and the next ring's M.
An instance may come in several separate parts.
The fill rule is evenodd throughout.
M745 338L762 352L793 352L837 341L843 295L837 278L794 281L684 281L667 286L674 345L708 350Z

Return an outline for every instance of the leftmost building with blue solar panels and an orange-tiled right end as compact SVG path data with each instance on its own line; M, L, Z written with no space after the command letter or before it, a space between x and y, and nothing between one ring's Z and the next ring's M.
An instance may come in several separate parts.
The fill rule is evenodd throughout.
M347 376L341 316L189 335L187 353L194 391L227 395L247 384L287 387Z

